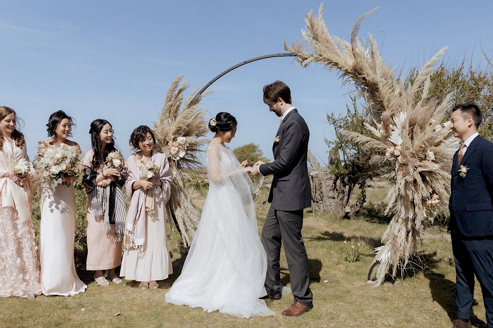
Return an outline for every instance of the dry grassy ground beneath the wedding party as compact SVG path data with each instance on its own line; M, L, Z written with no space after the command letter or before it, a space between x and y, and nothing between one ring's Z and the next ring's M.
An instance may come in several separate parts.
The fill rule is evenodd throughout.
M427 268L407 270L404 278L387 281L379 288L366 286L373 261L371 247L379 246L386 228L381 214L385 192L375 186L371 204L356 220L337 220L331 215L307 211L303 234L310 261L314 309L301 317L281 316L292 298L267 300L278 315L239 319L200 308L179 307L164 301L166 291L180 272L186 253L170 231L175 273L159 282L158 290L139 290L137 283L100 287L92 272L81 277L89 285L84 294L72 297L38 296L35 299L0 299L0 327L451 327L455 311L455 270L450 235L433 227L423 245L421 261ZM263 191L257 200L259 232L268 204ZM366 217L365 217L366 216ZM377 219L375 219L377 218ZM358 262L344 262L345 240L359 238L363 249ZM282 256L282 282L289 286L289 273ZM484 306L477 285L473 325L486 327Z

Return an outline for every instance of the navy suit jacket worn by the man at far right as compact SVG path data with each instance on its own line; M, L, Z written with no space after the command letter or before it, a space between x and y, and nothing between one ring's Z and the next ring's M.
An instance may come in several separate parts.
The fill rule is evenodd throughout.
M467 237L493 235L493 143L475 137L460 165L469 170L459 175L458 151L452 163L449 200L449 230L457 229Z

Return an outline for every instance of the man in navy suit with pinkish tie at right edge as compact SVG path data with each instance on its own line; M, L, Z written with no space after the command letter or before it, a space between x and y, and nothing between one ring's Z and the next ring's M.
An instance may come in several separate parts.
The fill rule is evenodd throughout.
M493 328L493 144L478 133L482 119L476 105L452 108L450 128L462 140L452 163L449 201L457 274L457 328L472 327L469 313L474 275L481 285L488 327Z

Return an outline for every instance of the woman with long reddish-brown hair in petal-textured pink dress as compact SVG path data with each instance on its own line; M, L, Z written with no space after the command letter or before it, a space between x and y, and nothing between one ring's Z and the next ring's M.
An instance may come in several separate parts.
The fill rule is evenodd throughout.
M12 173L22 159L29 162L15 112L0 106L0 297L41 294L31 217L34 187L29 173L22 178Z

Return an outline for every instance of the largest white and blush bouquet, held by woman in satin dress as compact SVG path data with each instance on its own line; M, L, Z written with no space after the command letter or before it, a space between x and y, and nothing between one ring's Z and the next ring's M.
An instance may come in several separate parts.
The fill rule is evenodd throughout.
M49 146L40 148L37 161L40 174L40 182L44 185L56 187L63 183L64 176L80 176L84 170L81 160L83 154L77 154L75 148L64 146Z

